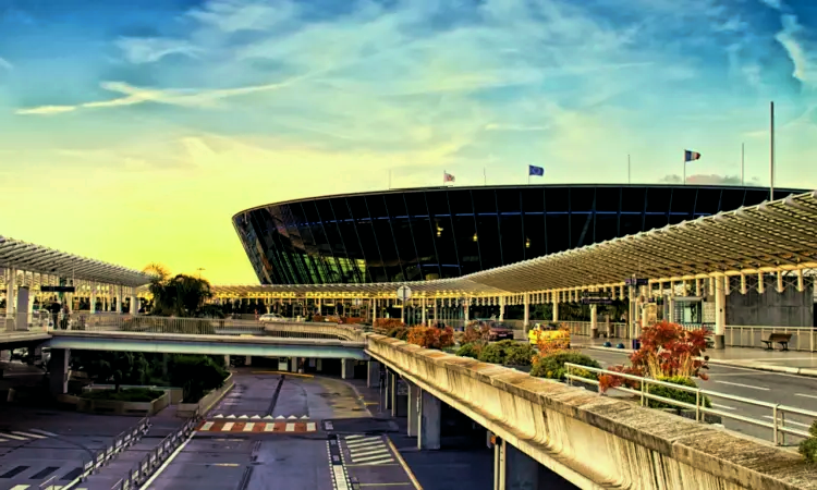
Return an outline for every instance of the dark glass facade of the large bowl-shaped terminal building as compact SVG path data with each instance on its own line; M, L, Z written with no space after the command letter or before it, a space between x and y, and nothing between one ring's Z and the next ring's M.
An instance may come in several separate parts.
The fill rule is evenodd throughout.
M775 189L775 198L803 189ZM768 199L768 188L441 187L302 199L233 224L263 284L455 278Z

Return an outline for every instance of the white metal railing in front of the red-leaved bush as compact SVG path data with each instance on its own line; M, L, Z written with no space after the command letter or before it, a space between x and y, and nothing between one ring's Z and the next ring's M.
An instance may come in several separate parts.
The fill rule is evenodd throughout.
M771 429L772 431L771 440L776 445L785 444L786 434L797 436L801 438L809 437L808 431L795 429L792 427L786 427L785 426L786 414L801 415L801 416L812 417L814 419L817 419L817 412L806 411L803 408L796 408L796 407L788 406L788 405L781 405L779 403L769 403L769 402L761 402L759 400L744 399L743 396L735 396L735 395L731 395L727 393L720 393L717 391L703 390L700 388L684 387L681 384L659 381L657 379L643 378L641 376L634 376L634 375L625 375L623 372L581 366L581 365L572 364L572 363L564 363L564 367L568 370L568 372L564 375L564 377L568 380L568 384L572 384L573 381L578 381L583 383L594 384L596 387L599 385L598 380L575 375L574 372L576 371L595 372L597 375L609 375L609 376L613 376L618 378L623 378L630 381L635 381L638 383L637 389L632 389L632 388L622 385L622 387L617 387L615 390L639 396L639 404L642 406L648 406L649 400L654 400L657 402L666 403L667 405L676 406L679 408L695 411L695 420L697 421L703 421L705 415L716 415L721 418L729 418L732 420L737 420L737 421L746 422L749 425ZM695 395L695 404L693 405L691 403L679 402L678 400L667 399L663 396L659 396L657 394L653 394L649 392L649 388L648 388L649 385L671 388L673 390L680 390L680 391L685 391L687 393L693 393ZM732 413L719 411L716 408L708 408L705 406L706 397L731 400L733 402L745 403L747 405L768 408L771 412L772 421L769 422L766 420L759 420L757 418L732 414Z

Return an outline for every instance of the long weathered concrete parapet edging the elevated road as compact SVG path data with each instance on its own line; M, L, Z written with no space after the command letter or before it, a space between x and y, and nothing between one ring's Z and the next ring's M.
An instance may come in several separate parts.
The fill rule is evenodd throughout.
M817 467L740 438L586 390L397 339L367 353L583 489L817 489Z

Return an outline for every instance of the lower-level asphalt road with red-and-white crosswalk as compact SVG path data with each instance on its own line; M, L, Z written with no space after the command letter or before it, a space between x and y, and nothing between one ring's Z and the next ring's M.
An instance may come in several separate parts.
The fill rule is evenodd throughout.
M349 383L240 369L235 388L143 488L413 489L383 424ZM387 424L388 426L388 424Z

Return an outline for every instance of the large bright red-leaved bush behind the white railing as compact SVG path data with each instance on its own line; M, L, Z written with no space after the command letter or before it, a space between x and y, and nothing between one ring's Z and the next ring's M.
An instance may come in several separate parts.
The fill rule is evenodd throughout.
M684 330L683 327L668 321L661 321L651 327L646 327L639 338L642 346L630 355L630 367L613 366L608 370L624 372L648 378L700 378L709 379L706 372L707 358L700 358L706 351L706 336L708 331ZM599 391L625 384L637 389L638 383L625 380L613 375L599 376Z

